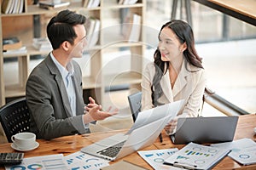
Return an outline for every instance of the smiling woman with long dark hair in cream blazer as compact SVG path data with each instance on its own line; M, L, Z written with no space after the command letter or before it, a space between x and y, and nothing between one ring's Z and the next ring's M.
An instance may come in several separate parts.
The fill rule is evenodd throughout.
M166 133L173 133L178 117L200 116L205 87L205 71L191 27L182 20L167 22L160 29L154 63L143 72L142 110L184 99L181 111L165 127Z

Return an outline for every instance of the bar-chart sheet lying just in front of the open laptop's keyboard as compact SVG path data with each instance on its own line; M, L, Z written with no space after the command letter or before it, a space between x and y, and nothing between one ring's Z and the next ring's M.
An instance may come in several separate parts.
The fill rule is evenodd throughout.
M108 162L105 159L98 158L96 156L90 156L81 151L75 152L64 157L67 162L67 169L78 170L78 169L100 169L101 167L108 166Z

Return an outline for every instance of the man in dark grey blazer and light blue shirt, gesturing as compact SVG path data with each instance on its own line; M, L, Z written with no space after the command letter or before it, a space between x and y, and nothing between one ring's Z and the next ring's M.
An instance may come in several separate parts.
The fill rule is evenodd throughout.
M30 74L26 102L31 113L31 132L53 139L90 133L89 123L113 116L90 99L84 106L82 72L73 58L81 58L86 46L84 15L63 10L47 26L53 51ZM85 114L84 114L85 113Z

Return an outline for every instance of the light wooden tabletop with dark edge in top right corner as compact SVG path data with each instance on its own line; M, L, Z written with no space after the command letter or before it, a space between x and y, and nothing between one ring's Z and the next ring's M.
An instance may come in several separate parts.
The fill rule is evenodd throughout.
M193 0L256 26L255 0Z

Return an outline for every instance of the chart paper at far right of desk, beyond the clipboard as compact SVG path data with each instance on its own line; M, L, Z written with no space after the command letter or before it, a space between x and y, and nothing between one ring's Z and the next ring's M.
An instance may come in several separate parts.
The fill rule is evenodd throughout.
M232 142L211 145L214 147L231 150L228 156L242 165L256 163L256 143L253 141L253 139L245 138L234 140Z

